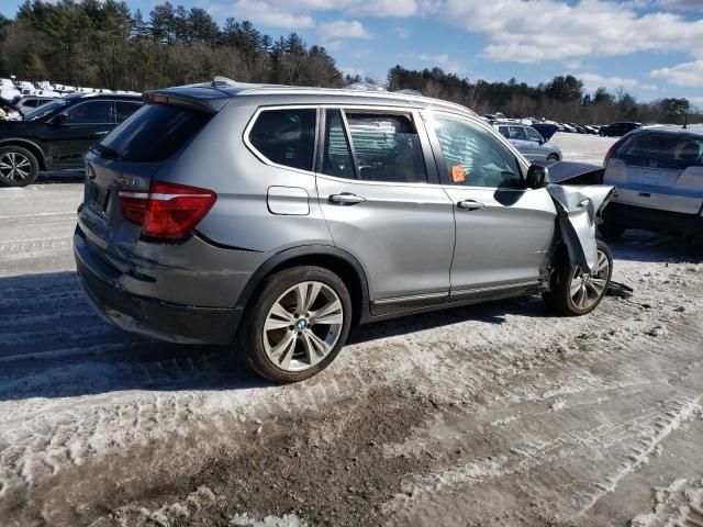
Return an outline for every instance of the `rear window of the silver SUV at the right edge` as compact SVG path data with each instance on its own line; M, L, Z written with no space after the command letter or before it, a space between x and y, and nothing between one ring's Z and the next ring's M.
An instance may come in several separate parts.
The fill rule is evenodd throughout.
M684 170L691 166L703 166L703 137L689 134L638 134L625 139L613 157L633 166Z

